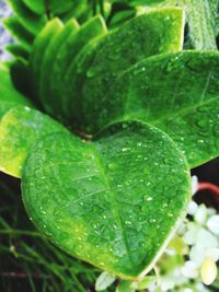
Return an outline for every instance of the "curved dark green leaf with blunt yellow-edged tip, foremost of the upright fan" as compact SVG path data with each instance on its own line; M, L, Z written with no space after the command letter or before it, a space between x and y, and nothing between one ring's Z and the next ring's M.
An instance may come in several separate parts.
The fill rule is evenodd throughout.
M163 8L135 17L89 45L81 60L70 67L61 97L69 120L87 122L90 103L101 103L124 70L151 55L178 51L183 45L182 9ZM87 110L88 109L88 110ZM90 120L90 119L89 119Z

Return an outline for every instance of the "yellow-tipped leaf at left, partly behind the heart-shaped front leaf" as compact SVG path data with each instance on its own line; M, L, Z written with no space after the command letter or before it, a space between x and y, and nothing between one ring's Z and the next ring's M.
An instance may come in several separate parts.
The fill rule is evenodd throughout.
M11 108L0 122L0 170L21 177L32 144L45 135L57 131L68 130L48 116L27 106Z

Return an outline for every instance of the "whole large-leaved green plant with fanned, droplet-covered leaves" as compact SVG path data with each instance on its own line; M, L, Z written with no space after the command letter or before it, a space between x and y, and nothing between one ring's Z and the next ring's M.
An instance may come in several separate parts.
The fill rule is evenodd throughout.
M16 1L13 31L27 2ZM110 32L100 15L81 26L33 20L20 21L34 36L28 60L9 65L18 89L26 93L28 82L32 104L1 70L0 168L21 178L30 218L51 242L139 280L185 215L189 170L218 155L219 54L182 50L175 7Z

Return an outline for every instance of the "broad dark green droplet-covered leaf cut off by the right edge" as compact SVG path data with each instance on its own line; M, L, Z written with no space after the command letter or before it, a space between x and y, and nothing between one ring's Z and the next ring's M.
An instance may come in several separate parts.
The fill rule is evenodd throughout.
M217 51L148 58L118 78L102 102L84 100L83 117L95 130L130 118L153 124L195 167L219 155L218 80Z

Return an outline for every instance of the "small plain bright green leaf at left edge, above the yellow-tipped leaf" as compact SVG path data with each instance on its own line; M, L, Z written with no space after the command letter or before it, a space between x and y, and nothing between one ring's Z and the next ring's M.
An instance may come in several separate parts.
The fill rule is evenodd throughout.
M14 105L32 106L31 102L14 89L10 70L3 63L0 63L0 118Z

